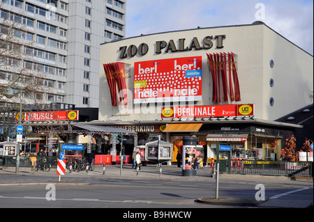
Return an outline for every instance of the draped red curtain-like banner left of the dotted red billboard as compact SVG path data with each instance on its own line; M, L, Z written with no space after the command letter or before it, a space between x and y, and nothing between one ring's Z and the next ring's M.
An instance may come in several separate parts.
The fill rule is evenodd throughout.
M108 86L110 88L112 106L117 106L117 88L121 104L127 105L126 74L124 63L103 64Z

